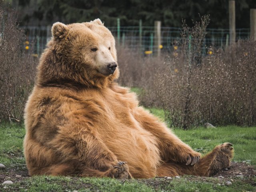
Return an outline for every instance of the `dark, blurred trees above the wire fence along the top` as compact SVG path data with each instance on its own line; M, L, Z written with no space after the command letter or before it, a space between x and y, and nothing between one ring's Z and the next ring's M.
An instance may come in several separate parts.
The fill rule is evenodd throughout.
M153 26L155 20L162 26L181 27L182 18L191 20L210 14L210 28L228 28L228 0L6 0L18 11L21 25L46 26L54 22L84 22L100 18L106 26ZM255 0L236 0L237 28L249 28L250 8Z

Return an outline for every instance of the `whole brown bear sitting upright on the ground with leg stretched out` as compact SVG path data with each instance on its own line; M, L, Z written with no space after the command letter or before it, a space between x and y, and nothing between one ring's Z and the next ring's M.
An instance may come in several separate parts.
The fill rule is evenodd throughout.
M118 75L114 37L99 19L53 24L25 109L30 175L211 176L229 166L232 144L201 158Z

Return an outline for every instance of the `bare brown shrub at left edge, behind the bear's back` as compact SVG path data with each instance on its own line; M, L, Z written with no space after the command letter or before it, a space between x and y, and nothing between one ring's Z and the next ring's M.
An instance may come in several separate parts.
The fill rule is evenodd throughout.
M32 90L36 59L25 50L24 32L18 29L14 12L0 1L0 121L20 122Z

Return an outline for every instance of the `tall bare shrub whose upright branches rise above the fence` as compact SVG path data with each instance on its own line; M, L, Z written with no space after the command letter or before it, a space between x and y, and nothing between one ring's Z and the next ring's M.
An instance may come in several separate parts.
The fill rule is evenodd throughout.
M166 70L159 73L159 96L167 119L172 126L182 126L187 129L194 123L197 113L194 106L194 89L197 84L193 82L194 71L201 64L202 46L205 37L209 16L203 16L201 22L196 22L189 28L184 21L181 52L179 56L168 56Z

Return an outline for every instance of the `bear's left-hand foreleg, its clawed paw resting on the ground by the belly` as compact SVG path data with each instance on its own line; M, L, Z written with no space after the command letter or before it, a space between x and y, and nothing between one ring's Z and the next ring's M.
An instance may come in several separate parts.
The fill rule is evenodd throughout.
M128 165L118 162L114 153L89 128L62 127L47 145L59 154L60 164L43 168L41 174L132 177Z

